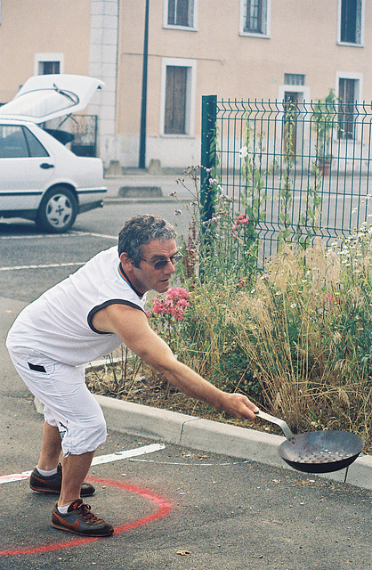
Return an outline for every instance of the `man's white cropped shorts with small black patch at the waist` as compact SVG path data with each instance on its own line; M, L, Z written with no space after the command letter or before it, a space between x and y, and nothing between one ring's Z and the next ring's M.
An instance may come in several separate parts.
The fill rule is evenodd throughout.
M106 421L85 385L84 366L35 353L10 352L10 356L20 378L44 404L45 421L60 430L65 456L93 452L106 441Z

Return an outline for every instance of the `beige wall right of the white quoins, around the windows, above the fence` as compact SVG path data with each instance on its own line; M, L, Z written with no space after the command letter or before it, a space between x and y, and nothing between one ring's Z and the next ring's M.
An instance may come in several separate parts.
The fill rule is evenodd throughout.
M138 159L144 2L122 0L118 45L118 159L135 166ZM281 100L298 91L306 100L338 89L338 76L360 79L360 101L372 98L368 61L370 27L364 46L337 44L338 0L271 0L268 37L239 35L239 0L199 0L197 31L163 27L163 0L150 2L147 161L175 167L199 161L201 97ZM366 3L367 4L367 3ZM125 7L125 10L124 10ZM366 5L365 21L372 6ZM162 134L162 65L166 58L195 62L194 124L190 135ZM176 63L175 63L176 64ZM303 74L303 87L286 86L285 74ZM186 165L186 166L187 166Z

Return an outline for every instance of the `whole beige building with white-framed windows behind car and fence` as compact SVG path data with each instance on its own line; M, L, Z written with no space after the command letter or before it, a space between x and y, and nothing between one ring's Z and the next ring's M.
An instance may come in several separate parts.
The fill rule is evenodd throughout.
M146 166L198 164L204 94L371 102L366 0L0 0L0 102L31 75L98 77L99 154L137 167L146 5Z

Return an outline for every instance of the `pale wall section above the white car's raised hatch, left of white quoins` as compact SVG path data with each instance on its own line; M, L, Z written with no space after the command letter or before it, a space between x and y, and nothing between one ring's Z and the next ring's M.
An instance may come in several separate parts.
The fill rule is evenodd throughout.
M61 55L65 73L88 74L91 0L2 0L0 103L36 74L36 54Z

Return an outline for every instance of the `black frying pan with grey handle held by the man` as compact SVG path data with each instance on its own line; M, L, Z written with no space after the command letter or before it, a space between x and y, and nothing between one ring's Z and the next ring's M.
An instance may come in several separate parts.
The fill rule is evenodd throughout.
M287 441L279 445L279 455L298 471L338 471L355 461L364 447L361 437L349 432L326 429L294 436L283 419L275 418L264 411L257 411L256 415L282 429Z

